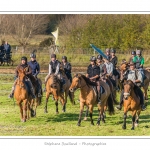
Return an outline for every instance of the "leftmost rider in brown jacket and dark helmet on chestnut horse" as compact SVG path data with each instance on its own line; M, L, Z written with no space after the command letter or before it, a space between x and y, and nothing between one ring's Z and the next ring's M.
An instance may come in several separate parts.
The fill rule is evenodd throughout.
M27 86L30 90L30 94L32 96L32 99L35 99L35 94L34 94L34 90L33 90L33 85L32 85L32 82L30 80L30 77L32 76L32 70L31 70L31 67L27 64L27 57L23 56L21 58L21 64L17 66L16 70L15 70L15 82L12 86L12 90L11 90L11 93L9 95L9 98L13 98L13 95L14 95L14 91L15 91L15 86L17 84L17 81L18 81L18 69L23 69L25 70L25 74L27 76L27 79L26 79L26 83L27 83Z

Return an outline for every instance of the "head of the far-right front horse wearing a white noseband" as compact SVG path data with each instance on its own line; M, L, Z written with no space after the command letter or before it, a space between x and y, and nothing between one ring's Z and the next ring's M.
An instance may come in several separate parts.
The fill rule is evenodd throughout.
M128 99L128 97L131 95L131 91L134 88L134 83L131 80L127 80L124 82L124 99Z

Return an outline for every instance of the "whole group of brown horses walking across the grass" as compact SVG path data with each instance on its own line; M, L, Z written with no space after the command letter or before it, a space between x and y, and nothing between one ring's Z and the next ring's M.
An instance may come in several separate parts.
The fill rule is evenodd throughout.
M120 72L120 78L122 77L123 73L125 72L127 68L127 64L122 64L119 67ZM41 102L41 98L36 98L36 100L33 100L31 96L28 94L28 90L25 85L25 71L24 70L18 70L19 76L17 85L14 92L14 98L16 99L16 102L20 108L20 114L21 114L21 121L26 122L27 119L30 117L36 116L36 108ZM79 119L77 125L81 125L81 118L84 110L84 106L86 106L86 116L85 120L87 119L87 115L89 112L91 125L94 125L92 114L93 114L93 108L97 105L98 107L98 119L97 119L97 125L100 125L100 121L105 122L105 112L108 110L109 115L114 114L114 104L117 104L116 101L116 88L113 86L112 82L109 80L109 77L106 77L105 80L101 80L101 104L97 104L97 92L96 92L96 85L95 83L91 82L88 78L86 78L83 74L76 74L73 79L72 83L70 80L66 77L65 73L62 72L63 77L66 81L64 85L64 93L60 92L60 83L59 80L55 75L50 75L47 83L46 83L46 103L44 107L44 112L48 113L47 109L47 103L49 96L52 95L55 100L56 105L56 113L58 114L58 101L60 100L62 104L62 111L66 111L66 104L67 104L67 97L70 97L70 100L72 104L74 104L74 92L77 89L80 89L80 95L79 95L79 101L80 101L80 113L79 113ZM147 96L147 90L148 85L150 82L150 73L145 70L146 80L144 81L144 96L145 99L148 99ZM38 79L40 84L42 85L42 82L40 79ZM120 82L119 82L120 83ZM132 81L124 81L123 84L119 84L120 89L122 89L122 86L124 88L124 121L123 121L123 129L126 129L126 118L127 118L127 112L132 112L132 130L134 130L135 126L138 124L139 115L141 112L141 106L140 106L140 99L139 97L134 93L134 84ZM35 86L36 87L36 86ZM41 93L43 94L43 93Z

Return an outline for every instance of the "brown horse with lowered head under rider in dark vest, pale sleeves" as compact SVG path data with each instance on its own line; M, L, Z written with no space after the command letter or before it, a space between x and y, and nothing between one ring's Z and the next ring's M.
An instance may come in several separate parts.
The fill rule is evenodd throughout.
M44 112L48 113L47 111L47 103L48 103L48 99L50 95L53 95L54 99L55 99L55 105L56 105L56 113L58 114L58 100L61 101L61 104L63 106L63 112L65 112L65 99L64 99L64 93L60 92L60 83L58 78L52 74L50 75L47 83L46 83L46 104L45 104L45 108L44 108Z

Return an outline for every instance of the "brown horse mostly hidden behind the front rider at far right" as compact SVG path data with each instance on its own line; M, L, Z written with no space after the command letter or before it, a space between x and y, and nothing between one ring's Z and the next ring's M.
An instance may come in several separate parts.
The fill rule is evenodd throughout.
M121 66L120 66L120 79L121 80L123 79L124 74L127 71L128 67L129 67L128 63L126 63L126 62L121 64ZM148 100L147 91L148 91L148 86L149 86L149 83L150 83L150 72L148 70L144 69L144 74L146 76L146 79L144 80L144 83L142 85L142 89L143 89L143 92L144 92L145 100Z

